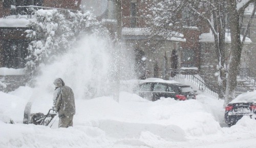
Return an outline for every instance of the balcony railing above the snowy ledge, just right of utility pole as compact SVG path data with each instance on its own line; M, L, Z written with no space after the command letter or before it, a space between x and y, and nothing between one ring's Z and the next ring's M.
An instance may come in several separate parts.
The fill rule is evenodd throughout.
M122 18L122 27L123 29L147 28L148 24L144 17L124 16Z

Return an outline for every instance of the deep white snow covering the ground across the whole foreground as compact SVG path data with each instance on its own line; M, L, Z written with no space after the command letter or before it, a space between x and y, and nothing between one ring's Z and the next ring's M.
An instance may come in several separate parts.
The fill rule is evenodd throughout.
M23 89L23 90L22 90ZM0 92L0 147L254 147L256 121L242 118L231 128L221 127L223 101L203 94L197 100L162 98L147 101L121 92L120 102L102 96L76 100L74 127L24 125L23 113L32 89ZM29 95L29 94L28 94ZM34 102L47 113L47 101ZM32 111L33 112L33 111ZM8 117L15 124L6 124Z

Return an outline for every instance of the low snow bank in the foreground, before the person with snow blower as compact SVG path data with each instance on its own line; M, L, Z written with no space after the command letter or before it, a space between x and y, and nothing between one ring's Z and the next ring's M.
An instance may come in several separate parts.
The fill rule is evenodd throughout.
M104 147L112 143L94 127L50 129L0 122L0 130L0 147Z

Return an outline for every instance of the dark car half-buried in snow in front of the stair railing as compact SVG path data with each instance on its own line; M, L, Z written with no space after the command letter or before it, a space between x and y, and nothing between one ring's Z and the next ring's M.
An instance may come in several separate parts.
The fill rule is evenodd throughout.
M189 85L175 81L150 81L139 84L135 93L151 101L159 100L160 97L171 97L175 100L196 99L195 92Z

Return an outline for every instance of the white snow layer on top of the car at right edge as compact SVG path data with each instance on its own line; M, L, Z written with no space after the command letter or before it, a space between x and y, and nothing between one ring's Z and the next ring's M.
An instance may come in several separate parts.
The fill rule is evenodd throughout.
M246 92L238 95L230 103L247 103L254 102L256 103L256 91Z

